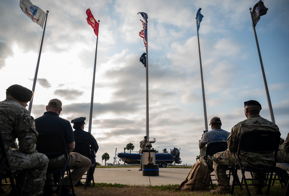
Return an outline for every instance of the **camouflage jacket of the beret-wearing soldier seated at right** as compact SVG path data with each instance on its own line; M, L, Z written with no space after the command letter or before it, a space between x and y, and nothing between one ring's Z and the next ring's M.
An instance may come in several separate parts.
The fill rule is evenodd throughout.
M265 118L262 118L259 114L254 114L249 116L248 119L239 122L232 129L228 136L228 150L232 152L237 152L240 137L249 131L273 131L279 132L278 126ZM281 135L281 134L280 134ZM233 153L235 154L235 153ZM236 153L237 154L237 153ZM274 154L256 154L253 152L240 152L241 159L247 163L248 166L258 167L272 166L275 164Z

